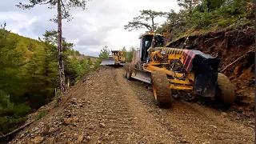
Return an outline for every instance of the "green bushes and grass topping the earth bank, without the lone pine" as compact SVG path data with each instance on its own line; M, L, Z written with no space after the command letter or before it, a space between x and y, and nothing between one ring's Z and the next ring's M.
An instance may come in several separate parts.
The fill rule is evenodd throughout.
M213 30L227 26L253 24L254 3L252 0L178 0L182 10L170 10L166 22L158 32L169 32L171 38L179 38L194 30Z

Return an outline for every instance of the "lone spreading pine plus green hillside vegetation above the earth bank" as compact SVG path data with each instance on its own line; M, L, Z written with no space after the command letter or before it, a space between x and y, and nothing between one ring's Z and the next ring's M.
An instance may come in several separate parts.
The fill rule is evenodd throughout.
M188 34L204 34L223 28L242 30L255 22L253 0L178 0L180 10L175 12L141 10L141 14L124 26L126 30L167 32L175 40ZM166 18L158 25L155 18Z

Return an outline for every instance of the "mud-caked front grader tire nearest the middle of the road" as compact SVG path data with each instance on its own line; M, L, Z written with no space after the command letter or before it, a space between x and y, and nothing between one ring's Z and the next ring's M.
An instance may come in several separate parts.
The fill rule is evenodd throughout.
M162 71L154 71L151 73L151 78L156 105L159 108L170 108L173 99L166 73Z

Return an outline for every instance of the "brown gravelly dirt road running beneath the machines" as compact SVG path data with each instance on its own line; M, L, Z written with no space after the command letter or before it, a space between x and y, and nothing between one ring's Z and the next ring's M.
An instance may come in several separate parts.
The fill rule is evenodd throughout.
M89 74L10 143L254 143L254 128L229 112L182 100L159 109L142 82L122 74Z

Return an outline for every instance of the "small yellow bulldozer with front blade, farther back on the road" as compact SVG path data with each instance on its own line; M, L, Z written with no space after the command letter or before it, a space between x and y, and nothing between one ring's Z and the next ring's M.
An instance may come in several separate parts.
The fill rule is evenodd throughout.
M102 66L120 66L126 63L124 52L120 50L111 50L111 55L108 59L103 59Z

